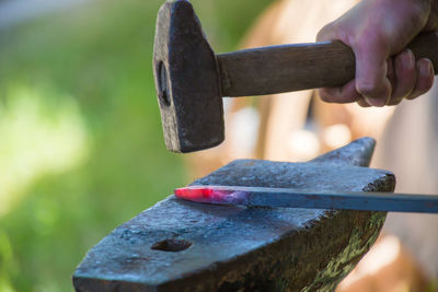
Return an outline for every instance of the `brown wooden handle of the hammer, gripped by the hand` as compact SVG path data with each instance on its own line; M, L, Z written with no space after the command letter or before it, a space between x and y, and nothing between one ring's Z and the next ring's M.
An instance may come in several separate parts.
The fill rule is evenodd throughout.
M408 46L438 70L438 35L417 36ZM342 42L244 49L217 55L222 96L263 95L344 84L355 77L355 55Z

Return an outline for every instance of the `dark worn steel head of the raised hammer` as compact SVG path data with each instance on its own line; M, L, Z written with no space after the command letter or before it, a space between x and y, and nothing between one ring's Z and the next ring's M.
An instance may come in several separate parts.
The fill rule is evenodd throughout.
M166 1L158 13L153 71L166 148L184 153L221 143L217 60L186 0Z

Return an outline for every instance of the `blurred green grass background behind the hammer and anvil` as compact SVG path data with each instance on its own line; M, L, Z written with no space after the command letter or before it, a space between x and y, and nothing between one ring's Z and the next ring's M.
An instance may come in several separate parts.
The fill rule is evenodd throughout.
M268 0L197 0L217 51ZM71 291L87 250L193 179L164 149L162 1L93 1L0 31L0 291Z

